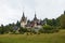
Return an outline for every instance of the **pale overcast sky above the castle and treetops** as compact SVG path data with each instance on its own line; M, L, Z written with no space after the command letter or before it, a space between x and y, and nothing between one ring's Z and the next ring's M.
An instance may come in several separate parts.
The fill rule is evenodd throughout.
M0 25L21 20L23 11L27 19L32 19L35 12L39 19L56 18L65 10L65 0L0 0Z

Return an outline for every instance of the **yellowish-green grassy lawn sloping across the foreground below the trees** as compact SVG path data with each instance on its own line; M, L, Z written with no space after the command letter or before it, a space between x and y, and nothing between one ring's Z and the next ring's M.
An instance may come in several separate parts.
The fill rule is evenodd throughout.
M65 30L49 34L0 34L0 43L65 43Z

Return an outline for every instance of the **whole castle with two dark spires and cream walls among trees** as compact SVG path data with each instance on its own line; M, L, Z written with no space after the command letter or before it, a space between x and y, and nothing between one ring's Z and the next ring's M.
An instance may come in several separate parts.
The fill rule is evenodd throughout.
M25 17L25 14L23 12L23 16L21 18L21 27L23 28L41 28L41 26L43 25L43 22L41 19L38 19L37 18L37 15L35 13L35 17L34 19L30 22L30 20L27 20L27 17Z

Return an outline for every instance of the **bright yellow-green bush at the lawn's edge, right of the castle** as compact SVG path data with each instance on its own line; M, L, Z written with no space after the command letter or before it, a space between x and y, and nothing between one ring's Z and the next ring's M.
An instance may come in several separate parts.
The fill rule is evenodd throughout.
M52 26L43 26L43 32L44 33L53 33L53 32L58 32L58 29L56 27L52 27Z

